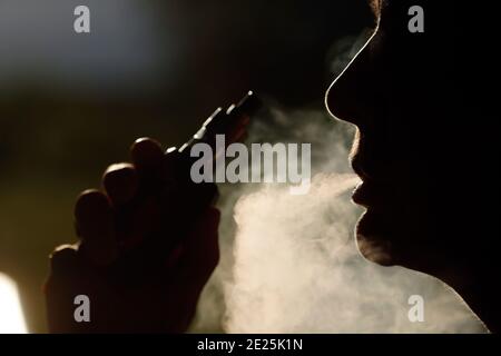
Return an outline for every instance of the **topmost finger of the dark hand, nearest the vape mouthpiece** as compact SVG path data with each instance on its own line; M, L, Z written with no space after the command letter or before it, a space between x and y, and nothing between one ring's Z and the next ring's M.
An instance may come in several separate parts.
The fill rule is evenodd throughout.
M164 159L161 145L151 138L139 138L130 147L132 164L139 175L157 171Z

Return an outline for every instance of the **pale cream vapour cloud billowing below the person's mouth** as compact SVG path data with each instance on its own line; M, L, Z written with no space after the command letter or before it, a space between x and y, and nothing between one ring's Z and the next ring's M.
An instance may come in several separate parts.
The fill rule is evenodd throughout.
M446 285L358 253L350 200L358 179L348 167L353 128L321 110L273 109L249 142L311 142L312 186L222 186L222 261L207 285L193 332L484 333ZM411 322L409 298L422 296L424 320Z

